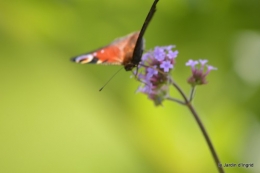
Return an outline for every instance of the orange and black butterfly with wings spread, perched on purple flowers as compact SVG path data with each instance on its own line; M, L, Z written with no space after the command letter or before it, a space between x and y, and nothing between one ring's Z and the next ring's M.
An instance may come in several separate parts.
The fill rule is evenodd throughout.
M143 35L156 11L156 4L158 1L159 0L154 0L140 32L130 33L116 39L107 46L76 56L71 60L80 64L123 65L126 71L130 71L134 67L137 67L141 61L144 49Z

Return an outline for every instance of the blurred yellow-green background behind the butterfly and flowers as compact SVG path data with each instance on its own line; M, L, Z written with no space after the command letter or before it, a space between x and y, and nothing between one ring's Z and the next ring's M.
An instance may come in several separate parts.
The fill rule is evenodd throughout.
M186 107L155 107L118 66L72 56L139 30L153 0L0 0L1 173L217 172ZM218 67L194 106L222 163L260 172L260 1L160 0L146 49L175 44L175 80L190 58ZM179 97L176 92L174 96Z

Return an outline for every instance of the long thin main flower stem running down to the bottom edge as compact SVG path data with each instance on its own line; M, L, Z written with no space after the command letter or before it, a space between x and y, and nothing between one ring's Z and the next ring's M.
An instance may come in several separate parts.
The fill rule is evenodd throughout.
M218 172L219 172L219 173L225 173L223 167L222 167L222 166L219 166L221 162L220 162L220 160L219 160L219 158L218 158L218 155L217 155L217 153L216 153L216 151L215 151L215 149L214 149L214 147L213 147L213 144L212 144L212 142L211 142L211 140L210 140L210 138L209 138L209 135L208 135L208 133L207 133L207 131L206 131L206 129L205 129L205 127L204 127L204 125L203 125L201 119L199 118L199 115L197 114L197 112L195 111L195 109L194 109L194 107L192 106L191 102L188 100L188 98L186 97L186 95L184 94L184 92L181 90L181 88L173 81L173 79L170 79L170 82L171 82L172 85L179 91L179 93L182 95L182 97L183 97L183 99L184 99L184 101L185 101L185 103L186 103L188 109L191 111L191 113L192 113L192 115L194 116L194 118L195 118L197 124L199 125L199 128L200 128L200 130L202 131L202 134L203 134L203 136L204 136L204 138L205 138L205 140L206 140L206 142L207 142L207 144L208 144L208 147L209 147L209 149L210 149L210 152L211 152L211 154L212 154L212 156L213 156L213 159L214 159L214 161L215 161L215 164L216 164L216 166L217 166L217 168L218 168Z

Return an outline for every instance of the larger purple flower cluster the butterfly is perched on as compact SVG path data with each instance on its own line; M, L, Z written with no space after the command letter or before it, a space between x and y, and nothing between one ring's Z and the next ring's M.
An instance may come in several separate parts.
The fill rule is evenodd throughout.
M139 65L141 72L138 74L138 79L142 84L137 92L147 94L155 105L161 105L168 96L168 74L173 69L175 58L178 55L177 50L172 51L173 48L173 45L155 47L153 51L143 55Z

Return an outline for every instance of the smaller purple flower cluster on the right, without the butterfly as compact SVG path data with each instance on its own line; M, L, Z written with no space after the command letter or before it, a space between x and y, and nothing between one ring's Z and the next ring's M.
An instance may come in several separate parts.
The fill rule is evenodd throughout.
M192 71L192 76L188 79L189 84L191 84L192 86L196 86L207 83L206 76L209 74L209 72L211 70L217 70L217 68L211 65L207 65L207 63L208 60L189 60L186 63L186 66L190 66ZM207 70L205 70L205 67L207 68Z

